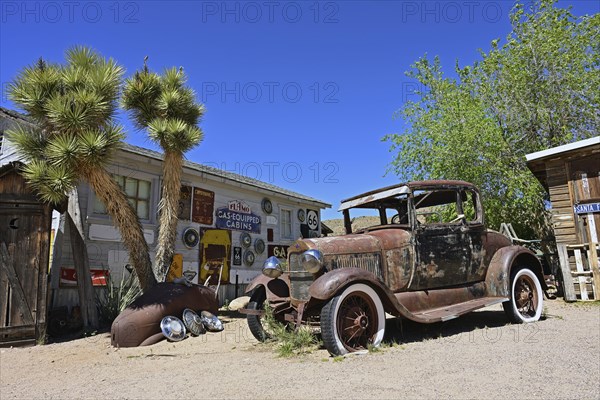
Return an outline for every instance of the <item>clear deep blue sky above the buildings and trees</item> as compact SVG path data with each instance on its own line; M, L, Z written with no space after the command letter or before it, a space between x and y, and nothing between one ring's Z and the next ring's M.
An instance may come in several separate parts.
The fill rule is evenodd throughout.
M575 15L600 2L564 0ZM381 138L415 83L404 72L439 55L447 73L505 38L512 1L2 1L3 92L25 65L95 48L132 74L183 66L205 104L194 162L333 205L397 182ZM14 109L3 94L2 106ZM131 127L127 142L158 150Z

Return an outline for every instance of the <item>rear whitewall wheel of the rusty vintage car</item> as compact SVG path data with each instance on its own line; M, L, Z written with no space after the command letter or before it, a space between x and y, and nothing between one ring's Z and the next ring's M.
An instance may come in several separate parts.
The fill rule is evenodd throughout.
M542 315L542 285L535 273L527 267L511 274L510 300L502 303L508 319L515 323L535 322Z

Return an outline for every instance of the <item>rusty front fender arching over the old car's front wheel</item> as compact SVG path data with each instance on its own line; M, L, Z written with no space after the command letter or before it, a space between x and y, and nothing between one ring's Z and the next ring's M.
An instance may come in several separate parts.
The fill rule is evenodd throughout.
M311 298L329 300L354 283L371 286L379 295L387 313L412 319L412 313L398 302L396 296L375 275L364 269L340 268L327 272L313 282L308 293Z

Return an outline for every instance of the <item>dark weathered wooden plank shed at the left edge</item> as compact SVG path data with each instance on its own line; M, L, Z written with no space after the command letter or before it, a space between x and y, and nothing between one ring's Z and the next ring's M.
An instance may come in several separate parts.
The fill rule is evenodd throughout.
M0 167L0 346L35 344L46 333L52 208L17 168Z

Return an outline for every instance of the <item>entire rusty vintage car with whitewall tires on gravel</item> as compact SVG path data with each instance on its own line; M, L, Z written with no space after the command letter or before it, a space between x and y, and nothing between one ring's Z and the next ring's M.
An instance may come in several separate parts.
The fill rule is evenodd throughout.
M379 224L352 232L350 210ZM503 303L513 322L542 310L542 267L530 250L486 229L479 191L462 181L395 185L344 200L346 235L300 239L247 288L250 330L259 340L269 303L275 318L319 324L333 355L377 346L385 313L421 323L446 321Z

